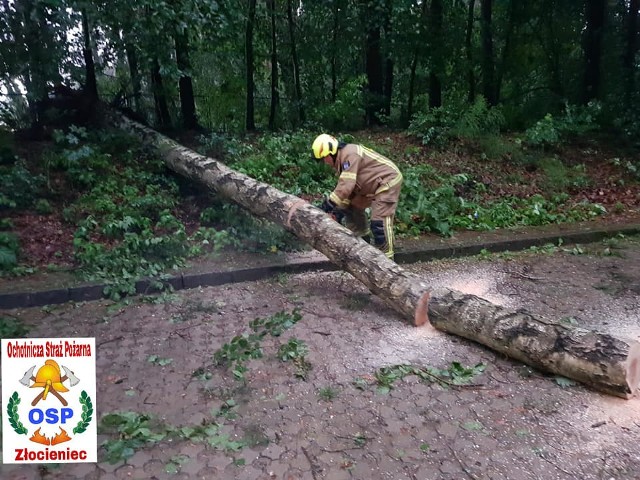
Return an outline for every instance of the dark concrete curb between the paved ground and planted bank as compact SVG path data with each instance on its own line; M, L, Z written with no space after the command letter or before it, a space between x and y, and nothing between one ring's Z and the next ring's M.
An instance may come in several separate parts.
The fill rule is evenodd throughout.
M533 246L557 244L560 240L566 243L593 243L616 235L637 235L640 225L624 227L605 227L591 231L564 231L546 234L510 238L508 240L476 241L466 244L449 244L429 246L396 253L399 264L441 258L454 258L477 255L482 251L504 252L519 251ZM514 234L517 235L517 234ZM217 271L197 274L181 274L162 281L164 285L171 285L174 290L184 290L197 287L211 287L238 282L252 282L273 277L278 274L295 274L315 271L333 271L338 267L328 260L302 261L291 264L267 265L256 268L243 268L230 271ZM157 280L140 280L136 283L136 294L151 294L161 291ZM0 309L41 307L44 305L60 304L69 301L82 302L106 298L106 285L84 285L70 288L59 288L37 292L18 292L0 294Z

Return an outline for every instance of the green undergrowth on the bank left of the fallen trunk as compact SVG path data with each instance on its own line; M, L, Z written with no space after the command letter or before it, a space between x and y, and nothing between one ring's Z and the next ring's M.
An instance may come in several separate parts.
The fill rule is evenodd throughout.
M281 227L213 195L198 192L204 198L190 204L194 197L184 191L187 182L120 131L72 126L54 132L53 148L43 154L41 165L29 170L17 157L5 163L0 168L8 181L0 191L0 210L39 208L46 215L53 211L51 203L60 205L62 219L75 226L79 273L104 283L105 293L116 300L135 293L143 278L164 288L167 273L196 256L225 248L300 248ZM5 276L27 273L20 268L21 246L12 228L11 222L0 224L0 272Z

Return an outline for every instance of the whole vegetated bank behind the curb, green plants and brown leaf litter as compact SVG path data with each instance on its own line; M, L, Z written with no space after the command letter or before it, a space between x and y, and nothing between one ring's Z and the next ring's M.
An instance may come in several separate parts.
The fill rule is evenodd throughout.
M364 143L402 168L400 238L450 236L623 212L628 198L618 200L615 191L597 194L603 188L597 175L602 158L595 164L580 152L579 142L597 128L596 113L596 106L567 107L557 119L547 116L531 129L507 135L500 131L499 111L480 101L463 114L416 117L406 132L365 130L340 138ZM304 129L201 134L190 146L317 204L335 179L310 160L312 137ZM0 269L5 277L73 268L83 279L105 283L106 293L117 299L134 293L141 278L161 286L169 271L189 259L227 248L264 254L305 248L282 228L173 174L125 133L71 125L55 130L52 141L36 152L18 147L11 136L3 138ZM571 142L576 146L567 148ZM605 162L608 187L638 191L633 160L612 156ZM40 238L26 228L33 222L42 228ZM52 242L50 235L61 232L72 240Z

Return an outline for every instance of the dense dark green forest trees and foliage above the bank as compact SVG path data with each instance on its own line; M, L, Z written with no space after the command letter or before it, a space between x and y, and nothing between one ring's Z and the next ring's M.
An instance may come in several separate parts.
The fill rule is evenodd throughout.
M407 127L482 96L510 129L597 104L603 127L637 134L638 11L638 0L2 0L2 122L41 121L39 102L67 84L160 128Z

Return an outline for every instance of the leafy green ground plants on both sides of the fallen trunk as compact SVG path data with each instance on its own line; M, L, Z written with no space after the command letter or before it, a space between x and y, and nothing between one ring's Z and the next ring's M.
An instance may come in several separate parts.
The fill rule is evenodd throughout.
M400 137L372 140L366 132L337 133L342 140L380 151L400 166L404 185L396 213L399 236L567 223L605 213L598 204L573 200L570 192L588 185L584 167L566 165L545 149L548 142L533 140L535 132L527 134L531 137L527 141L499 136L500 113L483 104L461 117L449 111L433 115L409 133L416 136L421 128L431 128L427 125L441 124L438 135L448 148L463 148L459 145L466 139L480 149L467 152L478 162L502 162L498 165L505 175L515 169L512 182L524 183L517 172L525 164L534 166L542 174L543 193L497 195L471 172L442 172L430 166L428 155L435 153L415 142L401 146L394 144ZM580 119L588 123L588 117ZM568 121L563 120L562 132L570 130ZM199 149L214 152L239 172L318 204L336 179L327 166L310 158L315 134L308 130L244 138L211 134L201 137ZM81 274L106 284L106 293L114 299L134 293L142 278L163 288L168 272L189 258L225 249L277 253L304 248L282 227L213 193L194 190L191 182L168 171L158 155L120 131L74 126L56 131L53 146L37 164L19 158L7 144L0 150L0 174L0 212L59 213L75 228L73 253ZM33 271L21 265L24 253L13 229L10 218L0 221L4 276Z

